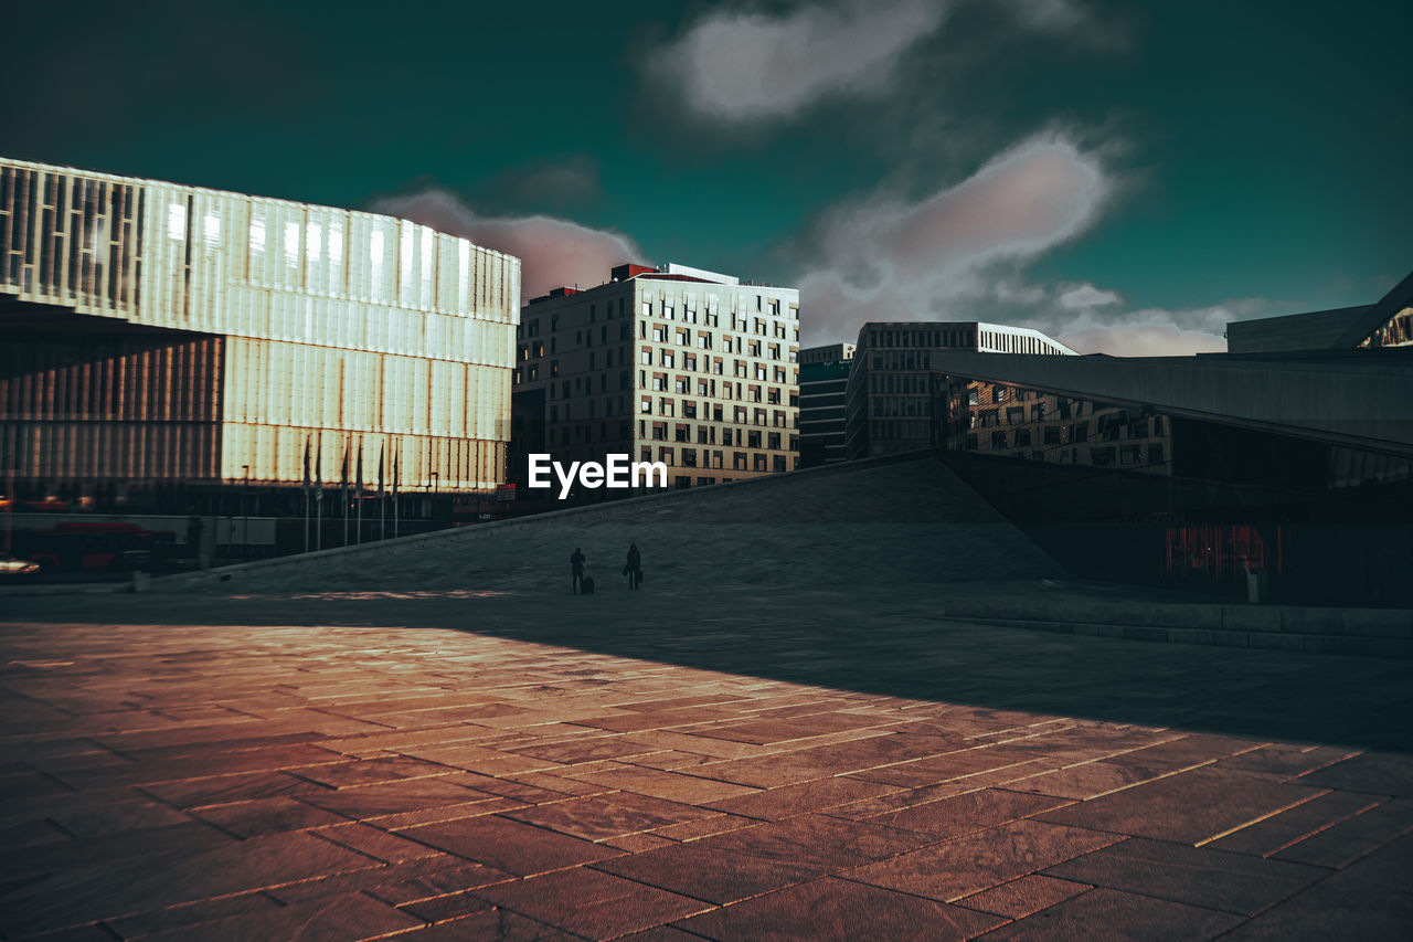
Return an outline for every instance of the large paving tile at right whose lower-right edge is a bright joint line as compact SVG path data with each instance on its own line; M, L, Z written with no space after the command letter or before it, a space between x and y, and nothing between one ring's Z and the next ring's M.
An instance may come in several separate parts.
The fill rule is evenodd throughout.
M1060 825L1197 844L1321 795L1259 772L1201 767L1041 816Z

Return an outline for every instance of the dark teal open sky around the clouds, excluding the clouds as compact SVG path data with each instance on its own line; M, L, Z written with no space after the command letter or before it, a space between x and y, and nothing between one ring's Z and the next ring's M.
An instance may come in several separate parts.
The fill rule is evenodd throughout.
M804 6L827 4L752 8ZM1366 303L1413 269L1413 4L1089 3L1053 33L952 6L882 88L722 123L643 62L732 7L25 4L0 153L355 208L435 185L790 281L832 207L921 199L1058 132L1112 192L1005 277L1116 291L1122 318Z

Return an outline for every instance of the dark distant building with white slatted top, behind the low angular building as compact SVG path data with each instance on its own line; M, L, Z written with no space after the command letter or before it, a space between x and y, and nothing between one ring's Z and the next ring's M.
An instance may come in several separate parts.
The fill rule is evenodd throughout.
M950 351L1074 355L1040 331L982 321L868 322L845 395L845 454L870 458L933 446L931 385Z

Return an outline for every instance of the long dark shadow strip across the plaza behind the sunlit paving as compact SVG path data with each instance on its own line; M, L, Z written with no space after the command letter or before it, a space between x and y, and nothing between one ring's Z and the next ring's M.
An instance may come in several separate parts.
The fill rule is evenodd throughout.
M991 628L938 586L307 591L10 598L0 621L451 629L803 686L1112 723L1413 752L1413 663ZM998 584L998 591L1043 591ZM4 629L0 628L0 638ZM352 641L350 641L352 644ZM0 645L3 646L3 645ZM612 666L605 682L612 682Z

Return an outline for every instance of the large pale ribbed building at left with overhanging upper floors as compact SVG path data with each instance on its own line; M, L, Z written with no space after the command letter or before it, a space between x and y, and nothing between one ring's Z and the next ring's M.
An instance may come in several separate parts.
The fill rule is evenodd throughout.
M0 160L0 471L261 552L314 485L449 522L504 479L519 310L517 259L408 221Z

